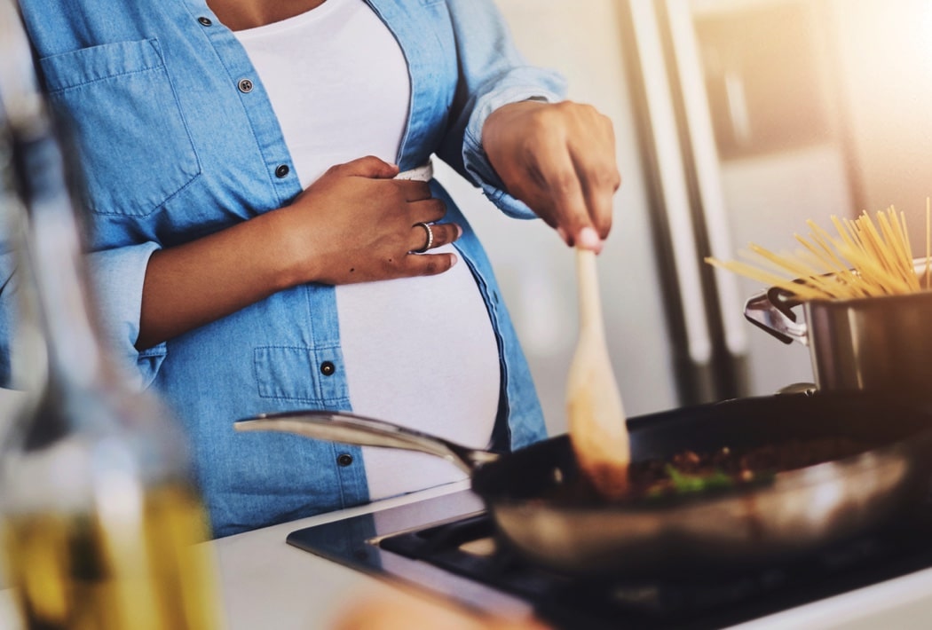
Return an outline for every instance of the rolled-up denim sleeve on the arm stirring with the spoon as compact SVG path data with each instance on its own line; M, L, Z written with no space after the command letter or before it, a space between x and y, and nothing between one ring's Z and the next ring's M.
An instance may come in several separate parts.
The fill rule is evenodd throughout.
M566 98L566 80L555 70L530 65L514 47L508 26L491 0L450 0L457 31L461 92L464 96L445 140L442 158L482 188L499 209L515 218L536 214L504 190L482 146L482 128L502 105ZM453 155L455 151L459 155ZM458 169L458 170L459 170Z

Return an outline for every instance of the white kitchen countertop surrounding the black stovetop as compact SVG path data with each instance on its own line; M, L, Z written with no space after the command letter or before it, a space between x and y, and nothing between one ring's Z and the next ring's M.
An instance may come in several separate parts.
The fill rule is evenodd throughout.
M321 514L205 543L215 554L228 630L325 630L361 597L401 594L374 579L288 545L285 537L375 509L461 490L468 482L440 486L391 500ZM274 620L274 621L272 621ZM791 628L927 628L932 625L932 568L744 623L741 630ZM0 628L21 630L10 589L0 590Z

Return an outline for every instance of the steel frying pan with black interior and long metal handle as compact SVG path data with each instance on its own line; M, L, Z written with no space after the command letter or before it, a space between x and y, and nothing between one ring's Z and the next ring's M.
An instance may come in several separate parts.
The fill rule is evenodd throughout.
M569 436L499 455L371 418L297 411L246 418L238 431L286 431L429 453L471 475L509 544L576 575L652 574L788 560L906 522L925 500L932 418L866 392L734 399L628 418L632 461L793 440L848 437L861 454L777 472L761 484L664 500L606 503L574 493Z

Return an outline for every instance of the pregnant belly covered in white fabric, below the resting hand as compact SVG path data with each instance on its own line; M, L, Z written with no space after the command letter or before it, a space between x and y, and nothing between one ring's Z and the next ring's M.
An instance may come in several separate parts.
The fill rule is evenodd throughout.
M438 276L337 287L341 348L355 413L484 448L499 405L498 342L458 255ZM374 500L465 477L417 453L366 448L363 458Z

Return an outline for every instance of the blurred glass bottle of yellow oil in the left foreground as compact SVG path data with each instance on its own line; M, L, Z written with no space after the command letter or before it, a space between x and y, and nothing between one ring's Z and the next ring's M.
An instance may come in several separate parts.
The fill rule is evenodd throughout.
M0 452L7 582L28 628L210 630L220 602L187 444L102 345L20 25L0 0L0 245L17 255L14 360L40 392Z

